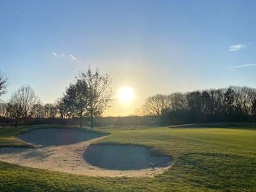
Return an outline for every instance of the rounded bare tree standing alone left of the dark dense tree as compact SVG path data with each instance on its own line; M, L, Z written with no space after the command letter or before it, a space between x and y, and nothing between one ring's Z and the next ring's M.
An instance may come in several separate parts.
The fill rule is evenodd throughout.
M15 127L19 120L24 120L31 115L33 106L39 102L30 86L22 86L13 93L8 102L8 113L15 119Z

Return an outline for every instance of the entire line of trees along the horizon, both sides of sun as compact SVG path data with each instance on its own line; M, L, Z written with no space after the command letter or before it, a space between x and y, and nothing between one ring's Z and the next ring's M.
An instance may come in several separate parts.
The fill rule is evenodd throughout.
M0 74L0 97L6 93L8 79ZM36 124L79 124L84 120L93 128L98 124L188 124L201 122L256 122L256 89L230 86L187 93L157 94L148 97L141 108L145 120L99 118L112 104L112 83L108 74L88 68L68 84L54 104L42 104L30 86L12 93L8 102L0 102L2 124L19 124L33 120ZM148 116L154 117L152 121ZM105 122L104 122L105 121Z

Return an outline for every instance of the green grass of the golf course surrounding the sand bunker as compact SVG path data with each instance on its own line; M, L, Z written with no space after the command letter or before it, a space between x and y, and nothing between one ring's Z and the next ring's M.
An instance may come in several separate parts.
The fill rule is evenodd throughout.
M15 135L40 127L1 128L0 146L26 146ZM109 132L100 143L152 147L155 152L173 156L172 168L153 178L108 178L0 162L0 191L256 191L255 125L205 124Z

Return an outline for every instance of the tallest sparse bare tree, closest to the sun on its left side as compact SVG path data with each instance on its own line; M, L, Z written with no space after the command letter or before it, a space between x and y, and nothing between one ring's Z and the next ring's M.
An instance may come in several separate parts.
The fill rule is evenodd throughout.
M100 70L95 72L88 68L85 72L81 72L77 79L86 82L88 86L86 107L90 120L91 127L94 127L94 117L102 115L102 113L111 106L112 103L112 81L108 74L100 74Z

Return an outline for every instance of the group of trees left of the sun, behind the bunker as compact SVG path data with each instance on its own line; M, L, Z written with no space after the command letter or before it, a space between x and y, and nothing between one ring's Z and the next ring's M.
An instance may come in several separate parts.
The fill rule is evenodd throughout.
M0 96L6 93L8 79L0 75ZM42 104L30 86L22 86L15 91L8 102L0 103L2 122L13 120L15 127L31 118L90 119L94 127L94 118L99 117L111 106L113 89L111 77L91 68L80 72L73 83L70 83L63 96L55 104Z

